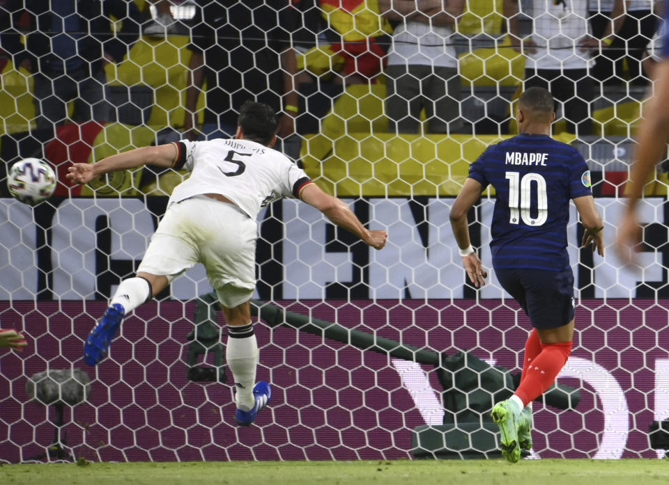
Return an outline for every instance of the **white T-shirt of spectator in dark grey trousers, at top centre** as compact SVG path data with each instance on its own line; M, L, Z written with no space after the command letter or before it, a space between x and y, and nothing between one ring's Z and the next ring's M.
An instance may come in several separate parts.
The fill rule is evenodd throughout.
M430 25L403 20L392 34L388 65L458 67L452 34L452 25Z

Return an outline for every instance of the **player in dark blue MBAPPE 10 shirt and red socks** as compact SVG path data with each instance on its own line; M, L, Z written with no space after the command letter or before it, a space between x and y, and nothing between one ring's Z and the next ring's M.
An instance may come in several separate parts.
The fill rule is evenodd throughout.
M475 287L487 277L469 238L467 213L489 184L496 200L492 221L493 268L534 327L525 342L521 382L493 407L502 454L515 463L532 447L532 401L553 384L571 353L574 274L567 254L569 200L585 226L583 245L604 254L603 227L594 206L590 172L576 148L551 138L553 96L528 88L518 99L518 136L491 145L470 166L451 209L453 232Z

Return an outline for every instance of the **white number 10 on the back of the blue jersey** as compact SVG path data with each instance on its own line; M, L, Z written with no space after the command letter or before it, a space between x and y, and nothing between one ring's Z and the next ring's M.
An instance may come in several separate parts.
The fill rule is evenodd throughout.
M548 218L546 179L538 173L526 173L521 178L518 172L506 172L509 181L509 223L543 225ZM536 217L532 217L532 182L537 182Z

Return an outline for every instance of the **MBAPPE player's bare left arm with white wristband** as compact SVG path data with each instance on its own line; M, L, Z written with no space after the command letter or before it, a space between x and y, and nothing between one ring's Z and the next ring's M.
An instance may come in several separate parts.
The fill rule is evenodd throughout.
M458 194L451 212L449 214L451 219L451 228L453 235L460 248L460 255L462 256L462 264L467 271L469 279L474 283L475 287L484 286L486 284L484 278L488 277L487 271L483 268L483 264L479 259L476 251L472 248L472 243L469 238L469 225L467 223L467 213L472 205L479 200L481 196L482 186L477 180L468 178L462 186Z

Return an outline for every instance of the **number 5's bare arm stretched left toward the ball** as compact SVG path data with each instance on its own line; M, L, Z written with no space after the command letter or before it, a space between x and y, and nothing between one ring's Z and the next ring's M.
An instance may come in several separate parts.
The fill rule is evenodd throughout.
M141 165L156 165L161 167L174 166L178 148L174 143L158 145L155 147L135 148L128 152L118 153L106 157L94 164L72 164L68 168L68 179L75 184L88 184L95 177L104 173L128 168L137 168Z

